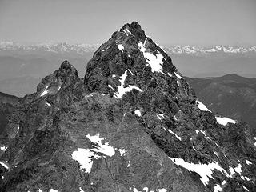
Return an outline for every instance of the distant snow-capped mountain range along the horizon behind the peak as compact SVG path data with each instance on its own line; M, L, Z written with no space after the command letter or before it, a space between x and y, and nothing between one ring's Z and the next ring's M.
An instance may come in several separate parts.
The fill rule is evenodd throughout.
M97 50L98 44L69 44L67 42L61 43L38 43L33 45L23 45L18 42L0 42L0 51L22 51L25 53L30 51L46 51L52 53L67 53L73 52L77 54L84 54L86 52ZM212 53L226 53L226 54L256 54L256 46L242 47L242 46L162 46L168 54L212 54Z

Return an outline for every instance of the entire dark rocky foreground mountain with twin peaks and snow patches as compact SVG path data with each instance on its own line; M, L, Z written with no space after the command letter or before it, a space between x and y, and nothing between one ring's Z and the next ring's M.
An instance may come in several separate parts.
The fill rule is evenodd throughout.
M256 191L256 136L198 101L138 22L84 78L63 62L6 119L2 192Z

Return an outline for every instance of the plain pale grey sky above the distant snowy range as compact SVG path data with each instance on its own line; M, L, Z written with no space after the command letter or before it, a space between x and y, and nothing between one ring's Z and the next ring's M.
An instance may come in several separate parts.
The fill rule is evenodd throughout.
M256 44L255 0L0 0L0 41L101 44L133 21L160 44Z

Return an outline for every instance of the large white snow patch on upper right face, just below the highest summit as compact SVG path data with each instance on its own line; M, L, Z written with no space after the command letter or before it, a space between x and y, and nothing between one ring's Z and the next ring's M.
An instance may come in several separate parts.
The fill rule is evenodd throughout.
M142 42L138 42L138 48L140 51L142 51L144 58L146 59L146 62L151 66L151 71L152 73L154 72L158 72L158 73L162 73L162 59L165 59L162 54L150 54L148 52L146 52L146 47L145 47L145 43L146 43L146 39L144 44Z

